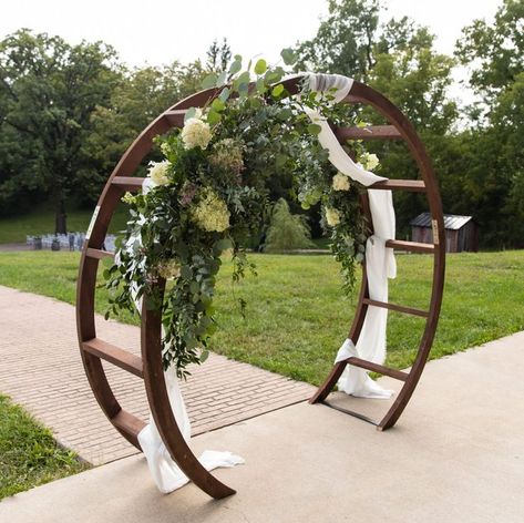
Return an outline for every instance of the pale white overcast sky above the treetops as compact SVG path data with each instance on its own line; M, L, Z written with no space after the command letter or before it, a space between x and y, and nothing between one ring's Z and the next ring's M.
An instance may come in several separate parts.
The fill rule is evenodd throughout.
M20 28L59 34L70 43L102 40L130 65L205 59L214 39L234 53L278 60L279 52L316 34L327 0L0 0L0 38ZM391 17L429 25L436 49L452 53L461 29L491 20L502 0L383 0ZM458 79L464 73L458 71ZM455 88L459 93L459 90Z

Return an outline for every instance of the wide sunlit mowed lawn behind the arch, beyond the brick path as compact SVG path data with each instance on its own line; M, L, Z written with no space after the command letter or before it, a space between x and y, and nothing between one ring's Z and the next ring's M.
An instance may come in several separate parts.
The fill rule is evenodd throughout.
M218 278L219 325L213 349L229 358L318 384L331 368L353 317L357 290L341 291L338 266L328 255L253 255L258 277L232 288L230 265ZM398 255L390 300L428 308L433 258ZM74 304L79 255L0 253L0 285ZM524 250L448 256L442 315L431 357L452 355L524 329ZM106 307L103 281L96 310ZM242 318L238 298L247 300ZM124 316L126 322L137 318ZM101 319L101 321L103 321ZM417 352L425 320L390 312L388 365L405 368Z

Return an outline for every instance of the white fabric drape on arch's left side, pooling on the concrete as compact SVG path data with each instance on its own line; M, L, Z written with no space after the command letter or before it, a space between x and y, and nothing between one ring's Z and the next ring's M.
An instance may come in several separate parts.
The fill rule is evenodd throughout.
M151 178L145 178L142 184L142 192L146 194L155 184ZM140 242L140 236L131 236L127 239L127 247L131 248L135 242ZM115 259L117 263L117 259ZM136 296L136 295L135 295ZM138 312L142 310L142 298L135 297L135 306ZM187 416L184 398L178 387L176 372L173 368L164 372L167 396L169 398L171 409L175 417L176 424L181 430L182 435L188 442L191 439L191 421ZM158 429L156 428L153 416L150 414L150 423L145 425L138 433L138 442L147 460L147 466L151 475L156 483L158 490L167 494L176 489L185 485L189 480L182 472L176 462L171 458L169 451L166 449ZM244 463L244 459L230 452L218 452L206 450L198 461L208 471L219 466L230 468Z

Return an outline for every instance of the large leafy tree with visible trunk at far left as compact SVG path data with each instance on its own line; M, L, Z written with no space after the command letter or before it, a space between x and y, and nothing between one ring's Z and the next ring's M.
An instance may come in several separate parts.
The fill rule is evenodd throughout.
M101 43L69 45L20 30L0 42L2 199L22 189L49 196L55 232L65 233L65 198L90 163L83 145L96 106L107 106L119 78L115 52Z

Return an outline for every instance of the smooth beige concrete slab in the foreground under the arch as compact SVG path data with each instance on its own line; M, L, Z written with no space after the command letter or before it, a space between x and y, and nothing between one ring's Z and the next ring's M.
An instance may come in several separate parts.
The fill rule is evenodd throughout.
M523 376L521 332L430 362L399 424L383 433L300 403L195 438L196 452L246 459L216 471L238 491L228 499L192 484L162 495L143 458L132 457L4 500L0 521L522 523Z

